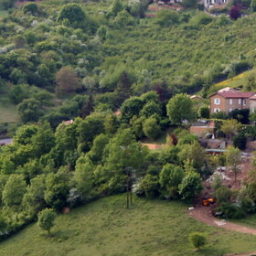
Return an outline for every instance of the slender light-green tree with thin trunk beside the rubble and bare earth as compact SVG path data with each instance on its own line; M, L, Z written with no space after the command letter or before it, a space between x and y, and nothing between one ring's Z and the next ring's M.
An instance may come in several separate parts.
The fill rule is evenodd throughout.
M237 175L240 173L240 163L241 163L240 149L230 146L228 148L228 151L225 152L225 156L226 156L227 165L229 165L230 169L233 171L235 175L234 183L236 183Z

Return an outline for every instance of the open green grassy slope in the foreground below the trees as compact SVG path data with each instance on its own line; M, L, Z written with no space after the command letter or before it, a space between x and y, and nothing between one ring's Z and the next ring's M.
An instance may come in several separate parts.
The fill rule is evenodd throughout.
M61 215L51 237L31 225L0 244L1 256L17 255L223 255L255 250L256 236L211 228L191 219L180 202L106 197ZM192 252L187 234L204 231L208 246Z

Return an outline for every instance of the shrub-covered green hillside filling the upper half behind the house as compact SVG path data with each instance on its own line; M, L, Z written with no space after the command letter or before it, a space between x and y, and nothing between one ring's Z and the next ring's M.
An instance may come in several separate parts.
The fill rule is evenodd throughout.
M166 98L200 90L207 96L213 82L254 66L255 15L232 21L161 10L148 18L148 1L132 3L42 1L2 19L0 90L22 104L24 123L83 117L92 110L88 105L115 110L129 96L151 90ZM73 7L80 16L72 15ZM77 93L84 96L79 106L69 101L61 108L55 101ZM27 99L30 118L24 116Z

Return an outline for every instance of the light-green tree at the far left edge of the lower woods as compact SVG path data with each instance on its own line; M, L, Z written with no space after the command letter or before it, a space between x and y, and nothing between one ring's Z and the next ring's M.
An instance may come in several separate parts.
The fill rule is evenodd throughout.
M6 207L19 207L26 193L26 182L22 175L9 176L3 191L3 202Z

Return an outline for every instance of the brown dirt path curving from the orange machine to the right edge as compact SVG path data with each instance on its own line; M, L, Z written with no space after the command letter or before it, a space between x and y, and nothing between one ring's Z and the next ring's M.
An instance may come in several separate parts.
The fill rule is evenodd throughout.
M189 211L189 215L201 222L208 224L209 226L219 227L221 229L229 229L244 234L256 235L256 229L248 228L235 224L224 219L217 219L212 216L211 208L197 205L194 210Z

